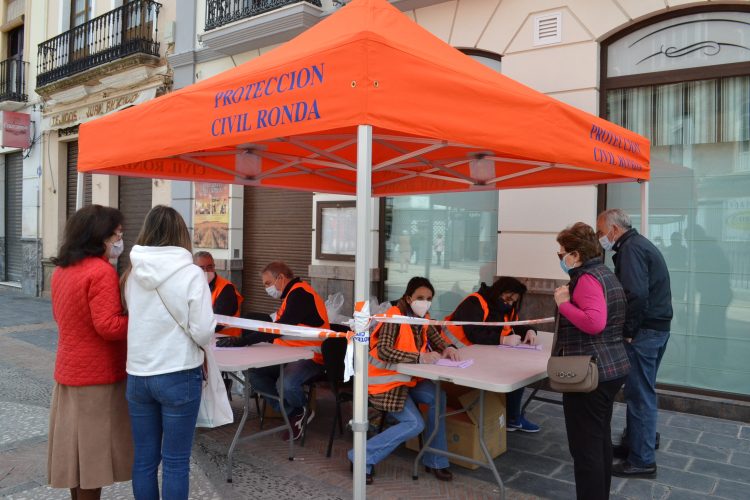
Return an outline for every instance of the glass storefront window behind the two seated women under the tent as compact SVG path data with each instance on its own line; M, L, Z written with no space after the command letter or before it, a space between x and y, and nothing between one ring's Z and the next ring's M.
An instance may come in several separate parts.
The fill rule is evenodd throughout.
M430 316L492 283L497 271L497 192L433 194L386 199L386 300L403 295L413 276L435 287Z

